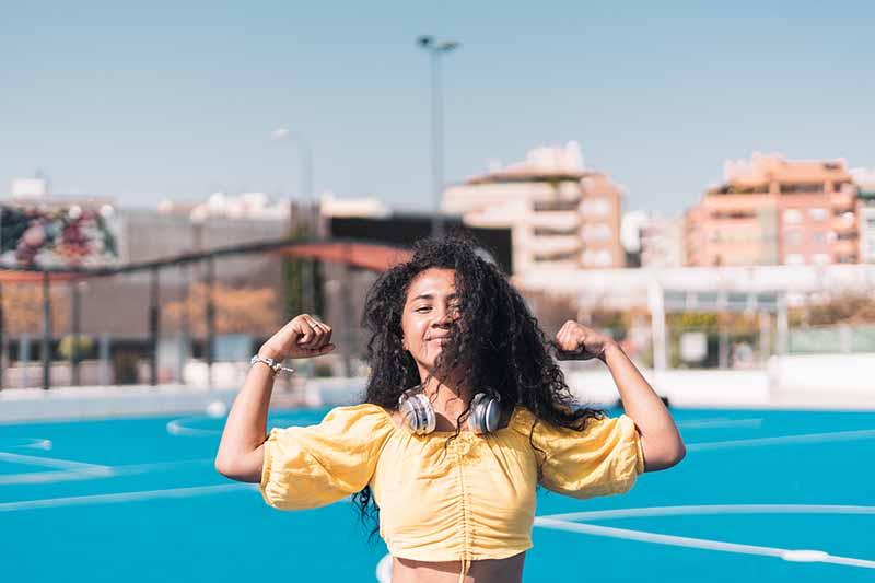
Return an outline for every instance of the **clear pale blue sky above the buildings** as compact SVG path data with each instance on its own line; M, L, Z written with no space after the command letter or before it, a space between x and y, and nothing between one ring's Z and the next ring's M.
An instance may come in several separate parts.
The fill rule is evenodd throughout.
M305 5L306 4L306 5ZM675 212L726 158L875 167L873 2L0 0L0 193L152 206L298 189L431 205L421 34L444 61L446 178L581 142L626 209Z

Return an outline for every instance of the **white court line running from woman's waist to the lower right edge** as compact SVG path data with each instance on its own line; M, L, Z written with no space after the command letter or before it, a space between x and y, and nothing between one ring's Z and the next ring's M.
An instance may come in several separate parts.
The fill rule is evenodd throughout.
M820 550L803 551L795 549L782 549L777 547L760 547L756 545L739 545L736 543L724 543L722 540L710 540L707 538L691 538L686 536L661 535L644 530L631 530L628 528L614 528L610 526L598 526L595 524L582 524L559 521L556 518L537 517L537 526L552 528L557 530L568 530L571 533L582 533L595 536L607 536L610 538L622 538L627 540L638 540L641 543L655 543L657 545L670 545L675 547L698 548L705 550L716 550L721 552L738 552L742 555L759 555L763 557L775 557L788 561L806 562L827 562L843 564L847 567L862 567L875 569L875 561L855 559L853 557L832 556Z

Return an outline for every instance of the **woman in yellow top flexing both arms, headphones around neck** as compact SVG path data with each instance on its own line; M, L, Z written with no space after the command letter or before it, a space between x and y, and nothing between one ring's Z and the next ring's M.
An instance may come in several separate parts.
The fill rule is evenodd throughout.
M421 242L374 283L363 323L364 403L266 434L270 364L334 350L331 328L300 315L261 347L215 467L258 482L279 509L354 494L362 514L378 512L393 583L522 581L538 485L574 498L625 492L684 457L672 416L617 342L572 320L548 341L467 241ZM551 352L602 360L626 412L580 408Z

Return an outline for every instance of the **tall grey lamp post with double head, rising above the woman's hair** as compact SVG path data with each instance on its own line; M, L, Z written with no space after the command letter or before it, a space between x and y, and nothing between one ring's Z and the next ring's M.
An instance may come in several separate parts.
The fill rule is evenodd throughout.
M444 188L444 136L443 94L441 92L441 55L462 46L455 40L435 40L432 36L420 36L417 45L431 56L431 173L434 196L434 214L431 234L440 237L444 232L441 213L441 195Z

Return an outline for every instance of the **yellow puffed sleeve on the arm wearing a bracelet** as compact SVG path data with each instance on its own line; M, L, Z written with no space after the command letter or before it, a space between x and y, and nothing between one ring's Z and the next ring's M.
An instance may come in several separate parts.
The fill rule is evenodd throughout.
M376 405L336 407L319 424L273 428L259 491L281 510L324 506L364 488L394 428Z

